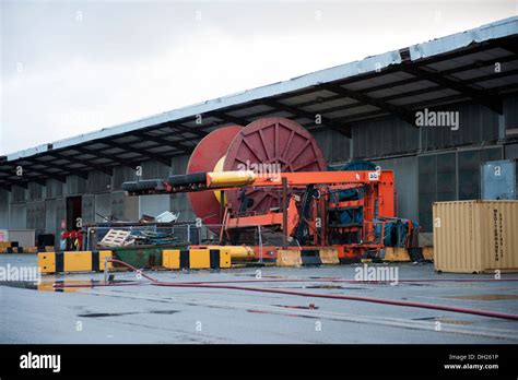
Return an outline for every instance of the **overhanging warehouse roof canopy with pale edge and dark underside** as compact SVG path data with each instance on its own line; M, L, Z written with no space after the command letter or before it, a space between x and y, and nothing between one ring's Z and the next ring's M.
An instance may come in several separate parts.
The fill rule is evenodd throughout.
M0 187L62 178L81 169L108 171L106 168L110 166L131 166L145 159L170 163L170 157L188 154L213 129L228 123L247 124L264 116L284 116L301 120L311 130L331 128L348 134L352 121L395 115L413 123L416 109L442 104L470 100L502 112L499 97L518 91L517 41L518 17L515 16L289 81L42 144L0 157ZM502 66L499 72L493 69L496 62ZM316 112L322 115L322 124L314 123ZM203 115L202 124L196 122L197 115ZM22 162L25 168L33 168L24 178L13 171ZM37 164L47 165L46 169L35 169ZM60 168L58 175L56 168Z

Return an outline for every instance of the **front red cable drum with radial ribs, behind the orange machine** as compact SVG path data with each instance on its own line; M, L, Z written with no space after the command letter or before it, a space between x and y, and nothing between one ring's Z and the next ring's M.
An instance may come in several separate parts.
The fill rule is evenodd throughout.
M258 165L259 164L259 165ZM258 165L258 166L257 166ZM243 128L226 152L223 170L251 169L256 173L321 171L326 159L315 138L293 120L263 118ZM248 189L250 211L264 212L281 205L281 194L268 189ZM239 191L227 191L226 200L239 206Z

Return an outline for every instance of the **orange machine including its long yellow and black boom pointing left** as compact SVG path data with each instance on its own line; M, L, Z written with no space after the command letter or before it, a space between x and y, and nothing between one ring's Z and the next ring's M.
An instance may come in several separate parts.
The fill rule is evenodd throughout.
M275 258L289 246L301 249L337 247L339 258L378 256L387 246L386 227L397 219L391 170L297 171L257 175L254 171L197 173L168 180L126 182L130 194L213 190L222 204L220 242L248 245L256 257ZM224 193L239 189L238 204L225 202ZM278 193L280 206L250 211L247 191ZM257 198L257 197L256 197ZM236 203L234 201L234 203ZM344 217L345 216L345 217ZM412 244L414 226L405 221ZM258 245L258 228L266 239Z

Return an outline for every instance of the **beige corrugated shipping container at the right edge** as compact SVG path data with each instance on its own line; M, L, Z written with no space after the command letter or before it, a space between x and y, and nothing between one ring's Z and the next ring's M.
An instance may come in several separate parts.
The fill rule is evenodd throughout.
M434 203L434 268L518 272L518 201Z

